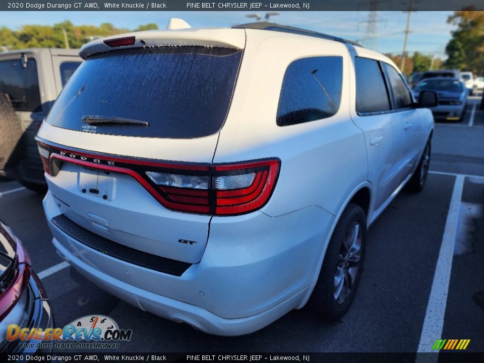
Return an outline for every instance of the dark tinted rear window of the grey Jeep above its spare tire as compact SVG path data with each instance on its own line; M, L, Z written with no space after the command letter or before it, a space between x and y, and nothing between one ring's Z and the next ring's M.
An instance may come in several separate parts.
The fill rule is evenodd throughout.
M0 92L6 93L17 111L41 111L37 63L28 58L22 68L19 59L0 62Z

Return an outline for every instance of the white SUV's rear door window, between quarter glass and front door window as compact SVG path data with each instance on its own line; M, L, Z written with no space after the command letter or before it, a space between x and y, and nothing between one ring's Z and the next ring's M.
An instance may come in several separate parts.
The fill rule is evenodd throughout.
M356 73L356 112L390 110L390 101L380 65L374 59L354 58Z

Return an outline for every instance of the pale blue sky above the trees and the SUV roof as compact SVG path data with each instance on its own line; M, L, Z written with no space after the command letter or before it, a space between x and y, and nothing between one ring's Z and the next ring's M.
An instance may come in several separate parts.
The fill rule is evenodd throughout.
M249 23L247 18L255 12L0 12L0 27L7 26L18 30L24 24L53 25L70 20L75 25L99 26L111 23L115 27L135 29L140 24L155 23L160 29L166 28L170 18L181 18L192 27L230 27ZM412 12L407 51L419 51L432 56L445 57L445 46L455 26L447 23L453 12ZM382 53L402 52L406 12L377 12L374 50ZM280 12L270 21L306 28L331 35L362 42L368 20L368 12ZM366 45L371 47L372 41Z

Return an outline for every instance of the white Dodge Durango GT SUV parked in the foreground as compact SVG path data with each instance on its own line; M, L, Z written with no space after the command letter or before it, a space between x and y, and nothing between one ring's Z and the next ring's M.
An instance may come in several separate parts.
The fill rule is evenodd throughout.
M434 92L392 61L269 23L95 40L37 136L53 244L85 277L205 332L308 300L339 319L367 226L425 185ZM311 298L310 298L311 297Z

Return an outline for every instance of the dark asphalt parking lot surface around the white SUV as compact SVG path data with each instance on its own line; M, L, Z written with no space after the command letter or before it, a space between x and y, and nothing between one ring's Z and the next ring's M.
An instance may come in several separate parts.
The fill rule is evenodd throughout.
M0 182L0 218L23 241L52 301L55 324L106 315L132 329L120 351L414 352L470 339L484 352L484 111L470 97L462 122L436 124L426 189L405 190L369 230L354 304L338 323L306 309L265 329L217 337L143 312L71 273L57 256L42 196ZM437 272L436 272L437 271ZM445 313L444 313L445 311Z

